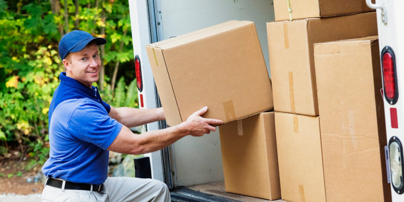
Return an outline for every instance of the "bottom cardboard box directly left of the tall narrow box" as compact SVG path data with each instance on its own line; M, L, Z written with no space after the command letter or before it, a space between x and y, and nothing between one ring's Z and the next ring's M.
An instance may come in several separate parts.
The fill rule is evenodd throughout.
M275 129L282 199L326 201L319 117L275 112Z

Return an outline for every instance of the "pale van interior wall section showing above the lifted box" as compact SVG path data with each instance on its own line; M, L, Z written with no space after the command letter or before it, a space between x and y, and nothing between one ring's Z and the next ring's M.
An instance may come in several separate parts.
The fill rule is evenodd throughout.
M210 27L229 20L248 20L256 24L268 73L267 22L275 21L273 0L164 0L161 25L164 39ZM285 3L286 4L286 3Z

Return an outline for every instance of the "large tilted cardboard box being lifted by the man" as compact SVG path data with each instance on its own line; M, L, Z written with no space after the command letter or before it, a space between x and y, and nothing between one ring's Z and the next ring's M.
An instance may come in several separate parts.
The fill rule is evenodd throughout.
M146 46L168 125L208 106L224 123L273 108L256 27L230 21Z

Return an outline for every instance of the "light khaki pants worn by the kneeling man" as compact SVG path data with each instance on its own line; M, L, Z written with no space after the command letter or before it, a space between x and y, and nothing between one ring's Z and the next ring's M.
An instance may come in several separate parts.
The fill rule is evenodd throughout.
M133 177L109 177L98 192L71 190L45 186L42 202L171 202L170 191L163 182Z

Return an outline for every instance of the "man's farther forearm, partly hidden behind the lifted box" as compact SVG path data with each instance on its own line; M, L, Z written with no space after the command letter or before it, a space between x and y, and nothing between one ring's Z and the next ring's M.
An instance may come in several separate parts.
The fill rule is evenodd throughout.
M135 109L128 107L114 108L111 106L108 115L128 128L141 126L155 121L166 120L163 108Z

